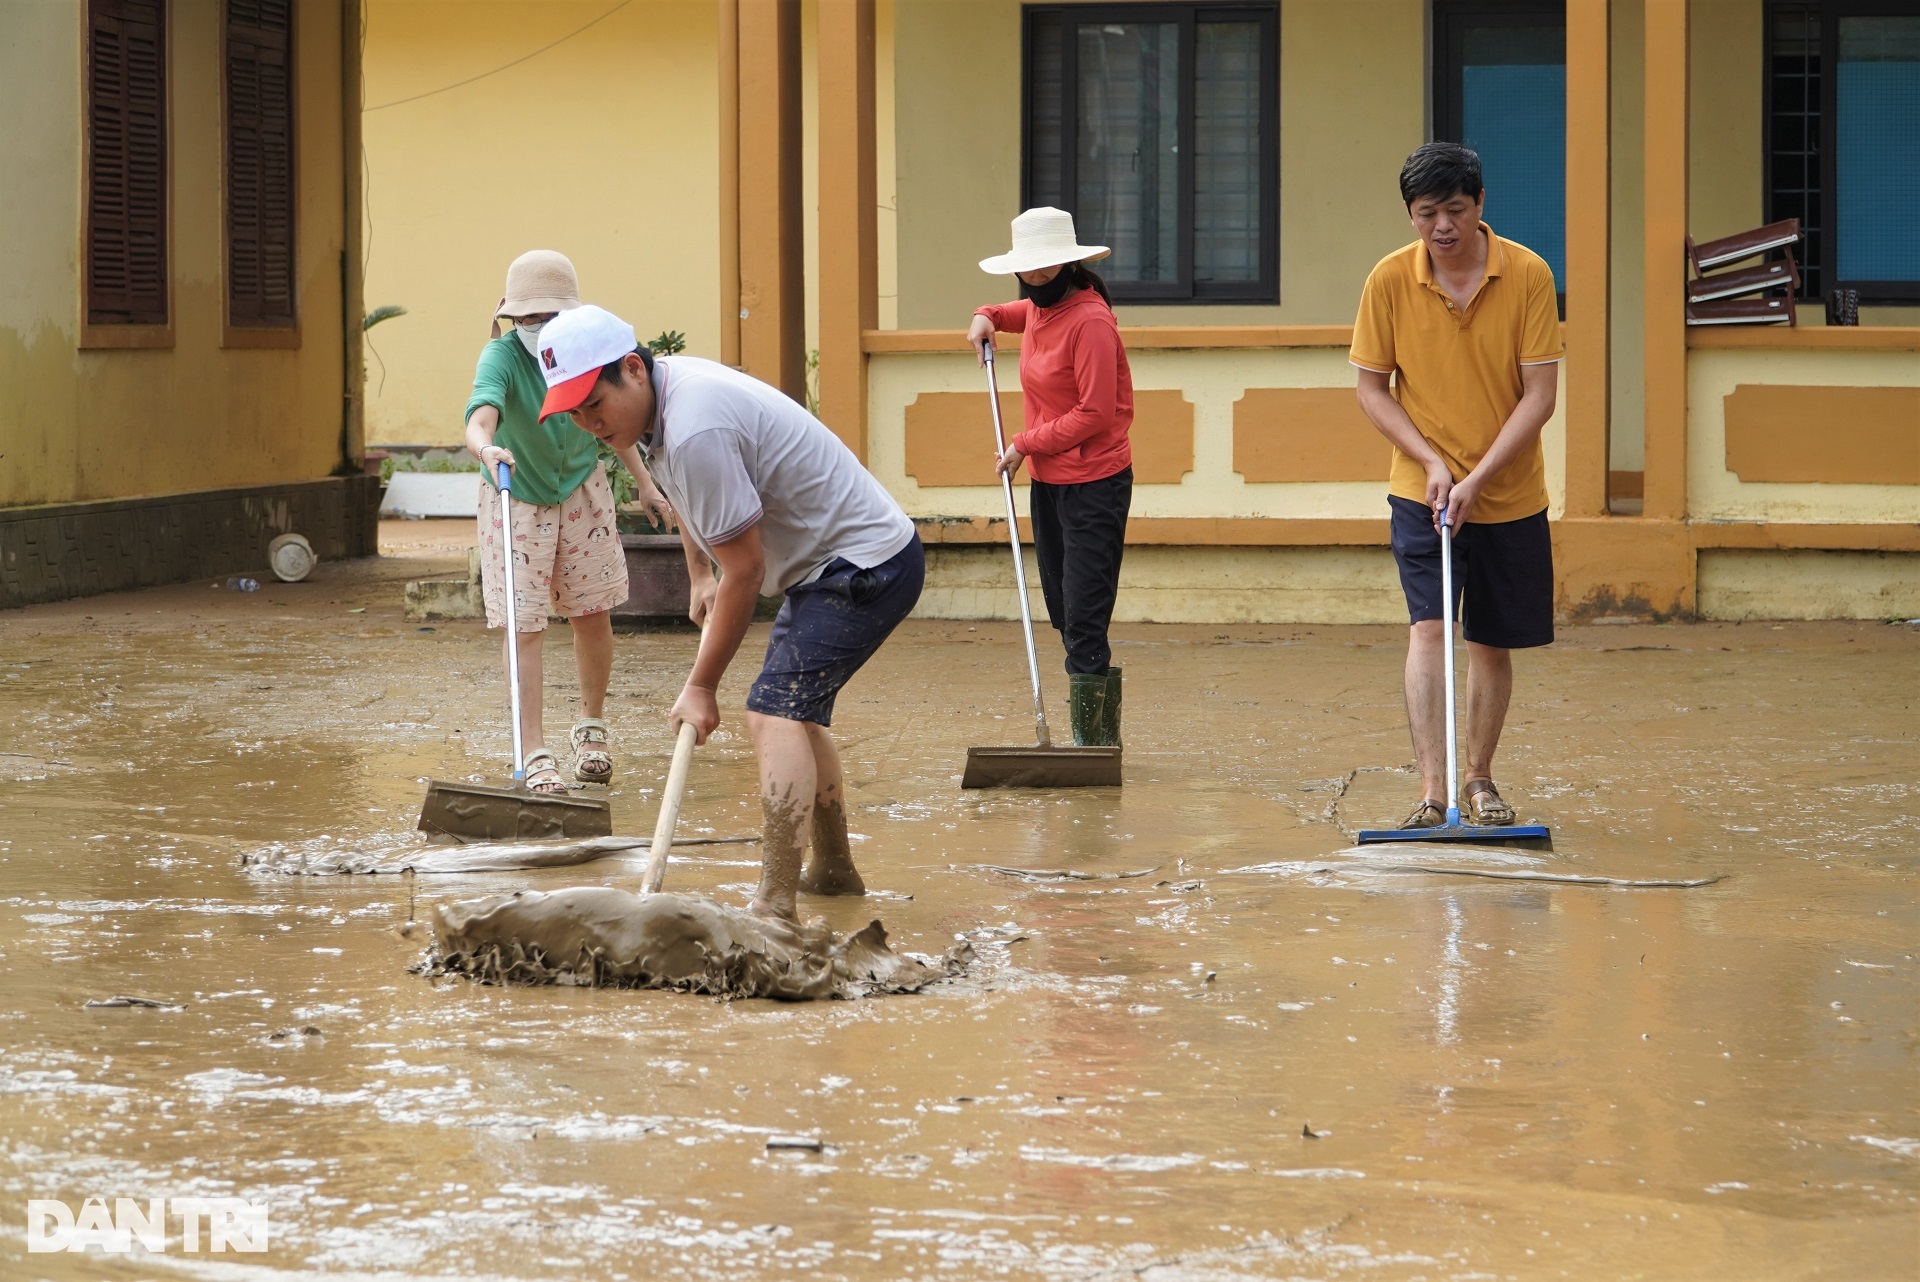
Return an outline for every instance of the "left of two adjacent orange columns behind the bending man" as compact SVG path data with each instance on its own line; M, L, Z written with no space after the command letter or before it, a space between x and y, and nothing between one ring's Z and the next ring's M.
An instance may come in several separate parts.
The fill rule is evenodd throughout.
M806 403L801 0L739 0L739 365Z

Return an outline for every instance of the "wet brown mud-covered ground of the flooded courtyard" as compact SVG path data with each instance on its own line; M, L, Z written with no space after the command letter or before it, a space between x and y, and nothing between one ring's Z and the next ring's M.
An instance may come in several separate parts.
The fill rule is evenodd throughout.
M801 904L975 967L720 1004L407 971L409 915L641 852L240 866L403 850L424 777L497 775L497 649L403 622L382 580L419 574L0 616L0 1276L1910 1276L1920 629L1524 656L1500 781L1559 850L1421 862L1726 873L1624 890L1340 854L1413 800L1398 629L1127 628L1125 791L960 795L1029 729L1016 633L910 624L839 712L876 894ZM651 831L691 645L618 643L616 831ZM687 835L758 825L739 697ZM753 846L668 871L756 879ZM184 1008L84 1008L115 994ZM265 1263L25 1253L31 1196L190 1194L269 1199Z

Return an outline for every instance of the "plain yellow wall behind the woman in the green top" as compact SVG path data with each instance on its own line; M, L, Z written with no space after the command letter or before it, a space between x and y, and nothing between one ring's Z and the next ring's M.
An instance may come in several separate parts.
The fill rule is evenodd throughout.
M409 313L369 332L369 441L461 439L526 249L566 253L641 340L720 357L718 13L611 8L367 0L367 305Z

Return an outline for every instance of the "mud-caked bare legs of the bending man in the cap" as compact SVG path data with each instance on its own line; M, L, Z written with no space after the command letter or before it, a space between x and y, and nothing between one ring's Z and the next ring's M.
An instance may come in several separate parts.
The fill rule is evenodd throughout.
M749 912L760 917L797 915L801 889L812 894L864 894L847 844L847 810L841 800L839 752L820 725L787 722L758 712L747 727L760 756L760 887ZM814 860L801 875L801 858L812 839Z

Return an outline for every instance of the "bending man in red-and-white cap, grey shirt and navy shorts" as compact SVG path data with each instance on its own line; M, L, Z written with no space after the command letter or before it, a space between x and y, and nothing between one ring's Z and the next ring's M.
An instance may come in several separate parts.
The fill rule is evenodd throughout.
M707 741L720 724L714 689L755 605L785 595L747 695L766 819L751 910L791 921L799 890L864 894L828 725L835 695L920 601L914 522L783 393L714 361L653 357L599 307L549 322L540 367L541 413L572 413L614 449L637 445L680 518L703 635L670 714L676 733L691 724Z

